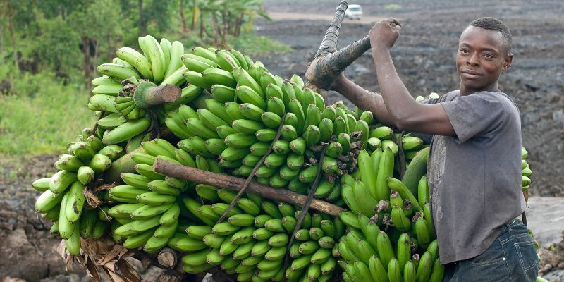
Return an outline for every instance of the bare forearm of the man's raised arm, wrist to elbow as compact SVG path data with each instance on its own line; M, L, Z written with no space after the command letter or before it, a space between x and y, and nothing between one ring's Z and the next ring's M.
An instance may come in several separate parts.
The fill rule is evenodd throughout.
M393 66L390 50L372 50L372 57L376 63L376 75L380 85L382 99L388 109L393 123L401 125L414 113L418 103L400 80L396 68Z

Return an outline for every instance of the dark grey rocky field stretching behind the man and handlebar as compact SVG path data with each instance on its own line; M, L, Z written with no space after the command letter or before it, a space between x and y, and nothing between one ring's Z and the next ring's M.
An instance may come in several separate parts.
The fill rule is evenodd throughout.
M353 2L351 2L352 4ZM393 16L403 23L392 49L400 78L413 96L444 94L458 89L454 72L455 48L465 26L480 16L503 20L513 33L513 66L500 89L515 99L522 119L522 143L529 150L534 171L532 195L564 196L564 2L479 0L394 1L401 8L386 9L383 1L359 0L361 21L345 20L338 47L367 35L374 20ZM293 48L283 56L259 58L272 73L290 78L304 75L329 26L337 1L314 4L298 0L265 1L273 22L260 20L259 35L270 36ZM324 20L326 19L326 20ZM379 91L372 55L367 52L345 70L345 75L370 91ZM329 100L343 99L329 92ZM351 105L352 106L352 105Z

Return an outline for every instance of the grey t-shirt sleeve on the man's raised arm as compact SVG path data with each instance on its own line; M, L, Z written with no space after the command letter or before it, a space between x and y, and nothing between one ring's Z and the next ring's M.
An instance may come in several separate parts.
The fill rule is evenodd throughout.
M503 122L505 106L496 95L492 92L476 92L441 103L459 143L494 130Z

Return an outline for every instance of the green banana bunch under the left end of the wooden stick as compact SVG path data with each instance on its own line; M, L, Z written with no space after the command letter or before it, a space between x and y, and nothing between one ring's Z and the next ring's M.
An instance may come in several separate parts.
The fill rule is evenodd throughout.
M180 194L193 190L194 185L156 173L152 165L157 157L186 166L195 166L195 161L163 139L142 142L141 147L144 152L132 156L137 173L122 173L125 184L111 188L106 195L108 200L119 203L110 207L108 214L115 219L111 225L114 240L130 249L143 247L145 252L154 253L165 247L176 232L183 232L178 226L190 224L180 219Z

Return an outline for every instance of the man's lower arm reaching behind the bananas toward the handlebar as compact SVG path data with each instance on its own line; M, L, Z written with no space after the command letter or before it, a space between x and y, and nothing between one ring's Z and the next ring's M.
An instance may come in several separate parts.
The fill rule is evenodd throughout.
M393 123L393 117L388 113L382 97L375 92L369 92L356 85L355 82L345 78L343 73L333 82L331 90L339 92L360 109L371 111L379 122L388 126L397 127L396 124Z

